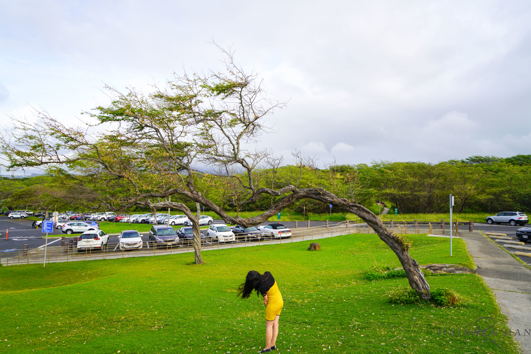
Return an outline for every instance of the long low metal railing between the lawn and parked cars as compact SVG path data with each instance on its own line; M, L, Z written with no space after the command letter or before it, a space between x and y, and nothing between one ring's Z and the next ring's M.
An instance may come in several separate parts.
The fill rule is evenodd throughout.
M384 225L395 234L449 233L449 220L442 222L439 220L439 223L432 223L431 221L415 222L415 220L413 222L410 222L410 220L385 220ZM144 232L140 233L144 234ZM209 251L212 249L285 244L347 234L375 234L375 232L361 219L340 221L332 225L328 225L327 221L326 225L323 226L292 228L292 236L287 238L264 237L263 239L254 241L242 236L242 238L237 238L235 241L230 242L217 242L213 239L204 238L201 240L201 249L202 251ZM160 243L154 244L153 241L143 241L142 247L139 249L126 249L125 247L121 247L119 243L108 243L102 248L84 248L85 245L78 246L78 238L79 237L66 238L63 236L61 246L50 245L46 248L41 246L32 249L23 248L4 251L3 253L0 253L0 263L3 265L12 265L45 262L72 262L194 252L193 243L188 240L177 241L177 245L175 245L175 243L170 245ZM25 245L25 247L27 247L27 245Z

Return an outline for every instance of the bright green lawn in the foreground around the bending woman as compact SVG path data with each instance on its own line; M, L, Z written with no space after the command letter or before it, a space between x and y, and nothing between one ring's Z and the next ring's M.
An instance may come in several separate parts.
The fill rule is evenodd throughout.
M473 266L463 240L454 240L449 257L449 239L409 237L420 264ZM399 266L378 237L346 235L320 244L316 252L302 242L205 251L204 265L178 254L0 267L0 350L252 353L264 345L264 307L256 296L237 299L236 288L254 269L271 271L284 297L277 340L284 352L498 352L481 336L439 336L439 329L473 330L477 318L491 316L498 335L489 338L517 353L512 338L500 335L505 318L477 275L427 277L432 287L465 296L463 307L392 306L384 295L407 287L405 278L363 280L370 265Z

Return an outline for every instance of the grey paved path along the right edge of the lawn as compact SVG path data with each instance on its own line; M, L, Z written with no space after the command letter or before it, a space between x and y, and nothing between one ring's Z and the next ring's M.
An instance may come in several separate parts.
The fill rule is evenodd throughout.
M501 311L509 318L511 330L520 330L515 340L523 354L531 354L531 270L515 260L503 248L483 237L479 231L459 231L468 252L477 265L477 274L496 296Z

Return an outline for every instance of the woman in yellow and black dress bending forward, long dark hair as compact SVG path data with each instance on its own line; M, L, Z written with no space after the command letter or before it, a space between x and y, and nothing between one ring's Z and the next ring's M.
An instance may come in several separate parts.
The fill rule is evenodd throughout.
M277 282L270 272L260 274L256 271L250 271L245 277L245 282L238 288L238 296L246 299L251 296L253 290L256 290L256 296L259 293L263 296L265 305L265 348L259 353L277 350L275 342L278 336L278 319L280 318L280 311L284 307Z

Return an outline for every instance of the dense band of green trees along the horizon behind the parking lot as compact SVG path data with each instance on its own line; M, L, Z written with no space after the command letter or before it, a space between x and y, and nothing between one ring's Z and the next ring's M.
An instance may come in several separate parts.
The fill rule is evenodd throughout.
M249 178L243 173L233 173L232 177L198 174L198 185L207 198L225 210L266 210L278 200L279 197L262 194L256 203L246 204L250 191L236 177L242 181ZM75 179L75 183L69 179ZM371 165L327 168L288 165L258 170L253 179L256 186L273 189L289 184L298 188L325 188L372 210L375 203L382 202L388 208L398 208L400 213L447 212L449 194L455 196L454 211L457 213L531 210L531 155L473 156L439 163L374 161ZM80 188L83 183L85 186ZM2 178L0 199L3 208L25 207L26 204L46 208L56 203L63 209L78 211L88 211L104 196L118 200L118 192L113 196L110 189L120 191L120 188L97 191L90 189L90 184L87 176L54 175L50 170L48 176ZM106 193L102 193L104 190ZM186 203L192 210L196 208L182 196L174 195L172 201ZM326 213L330 209L326 203L303 200L294 204L290 211ZM332 213L336 212L344 211L333 206Z

